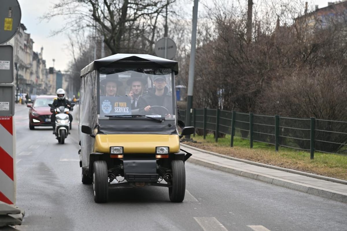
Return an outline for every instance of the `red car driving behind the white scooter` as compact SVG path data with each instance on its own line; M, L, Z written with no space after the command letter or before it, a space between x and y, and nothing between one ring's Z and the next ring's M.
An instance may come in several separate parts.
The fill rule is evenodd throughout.
M52 126L51 124L51 107L53 100L57 96L42 95L37 96L34 104L28 104L29 107L29 129L34 130L36 126Z

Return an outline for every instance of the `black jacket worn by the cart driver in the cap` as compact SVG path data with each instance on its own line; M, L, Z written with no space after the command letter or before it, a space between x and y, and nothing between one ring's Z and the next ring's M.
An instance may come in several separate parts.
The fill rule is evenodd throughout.
M172 94L167 88L164 88L162 96L155 95L155 88L148 89L145 95L142 95L137 102L137 108L143 113L142 109L146 106L163 106L169 110L172 115Z

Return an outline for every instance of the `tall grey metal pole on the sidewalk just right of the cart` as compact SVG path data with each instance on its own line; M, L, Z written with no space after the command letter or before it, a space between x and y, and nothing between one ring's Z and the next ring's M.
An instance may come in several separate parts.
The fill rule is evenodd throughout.
M195 68L195 47L196 47L196 26L197 26L197 7L198 0L194 0L193 7L193 27L192 27L192 47L191 59L189 61L189 75L188 75L188 96L187 96L187 112L186 112L186 126L191 126L191 114L193 106L193 89L194 89L194 68ZM186 135L186 139L190 139L190 135Z

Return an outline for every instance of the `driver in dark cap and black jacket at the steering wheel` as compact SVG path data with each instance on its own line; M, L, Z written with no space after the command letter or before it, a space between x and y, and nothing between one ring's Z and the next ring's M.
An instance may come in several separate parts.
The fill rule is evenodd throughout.
M164 75L156 75L154 77L154 88L149 89L147 94L140 97L137 105L138 108L140 108L140 113L141 111L149 112L151 106L163 106L169 110L169 114L166 114L165 116L171 116L172 94L166 87L166 78ZM160 113L157 112L157 114Z

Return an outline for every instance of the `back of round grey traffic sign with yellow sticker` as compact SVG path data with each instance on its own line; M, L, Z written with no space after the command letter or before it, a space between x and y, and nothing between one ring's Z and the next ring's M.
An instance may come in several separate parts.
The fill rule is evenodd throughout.
M1 0L0 44L6 43L15 36L21 17L22 12L17 0Z

